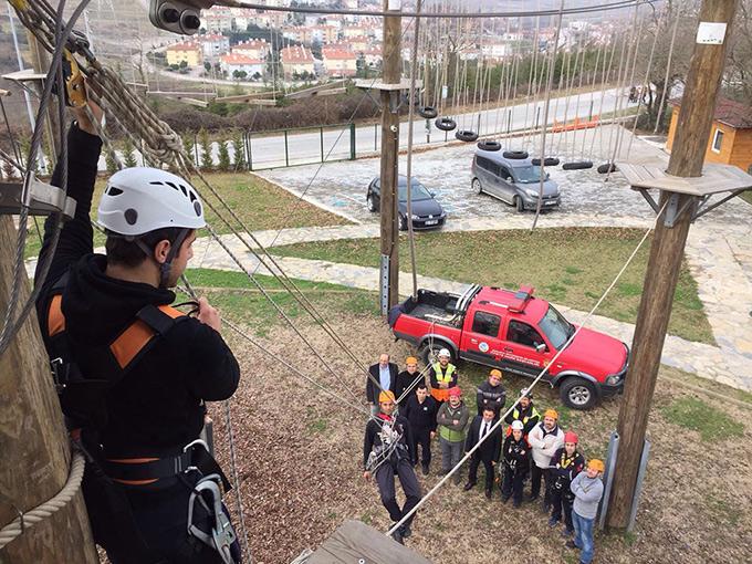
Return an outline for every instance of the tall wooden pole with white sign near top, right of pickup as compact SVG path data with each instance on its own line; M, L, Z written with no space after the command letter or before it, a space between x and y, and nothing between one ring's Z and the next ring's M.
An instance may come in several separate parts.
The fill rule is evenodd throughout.
M667 174L702 176L704 154L723 74L725 52L738 0L703 0L687 87ZM717 39L712 39L712 36ZM625 529L630 518L637 473L656 387L660 355L689 226L698 196L661 190L661 216L650 247L637 315L633 356L619 410L619 446L607 524ZM669 223L669 224L667 224Z

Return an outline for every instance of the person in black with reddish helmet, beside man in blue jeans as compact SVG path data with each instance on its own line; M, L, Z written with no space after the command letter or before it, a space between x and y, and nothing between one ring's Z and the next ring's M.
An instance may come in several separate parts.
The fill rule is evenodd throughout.
M577 434L566 431L564 434L564 447L558 449L551 459L551 503L553 510L549 525L556 526L564 513L564 536L572 536L572 503L574 494L570 490L572 480L585 468L585 458L577 450Z

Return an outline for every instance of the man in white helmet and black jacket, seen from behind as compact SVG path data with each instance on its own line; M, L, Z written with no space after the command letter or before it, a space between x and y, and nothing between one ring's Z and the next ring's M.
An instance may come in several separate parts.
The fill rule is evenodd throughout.
M36 310L48 352L54 358L64 349L56 372L67 382L61 405L88 455L82 489L94 537L116 564L221 563L213 547L187 533L188 503L194 485L219 470L195 442L206 401L229 398L240 369L206 299L196 316L168 307L169 289L203 226L201 203L175 175L122 170L100 202L107 254L93 254L90 209L102 140L85 111L74 113L67 196L76 200L75 217L62 228ZM59 161L52 184L60 182ZM53 252L54 224L54 217L44 223L38 265ZM138 332L148 341L136 338ZM194 516L211 535L218 515L199 508ZM231 552L239 562L237 543Z

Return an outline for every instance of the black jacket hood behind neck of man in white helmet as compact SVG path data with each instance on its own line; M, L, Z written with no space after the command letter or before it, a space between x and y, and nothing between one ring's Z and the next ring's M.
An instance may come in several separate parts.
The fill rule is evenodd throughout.
M105 275L107 258L87 254L72 269L64 290L63 314L70 334L92 345L108 344L145 305L165 305L175 300L169 290Z

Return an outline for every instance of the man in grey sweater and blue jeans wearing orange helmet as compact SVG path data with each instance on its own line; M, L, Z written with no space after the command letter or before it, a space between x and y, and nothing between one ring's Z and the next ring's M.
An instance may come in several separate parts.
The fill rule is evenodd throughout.
M581 564L591 564L595 545L593 542L593 526L598 513L598 504L603 498L603 481L600 476L605 470L603 460L592 459L587 462L587 469L579 472L570 490L574 493L572 506L572 521L574 523L574 539L566 543L570 549L579 549Z

